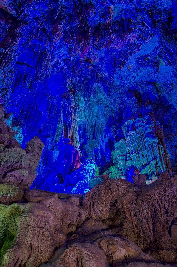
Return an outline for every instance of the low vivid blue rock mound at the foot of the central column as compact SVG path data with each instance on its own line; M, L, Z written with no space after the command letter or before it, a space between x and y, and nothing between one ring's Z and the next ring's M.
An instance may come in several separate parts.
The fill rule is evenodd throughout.
M71 148L69 148L69 146ZM60 147L60 149L62 150L62 147ZM51 174L42 177L42 179L41 176L38 176L32 183L31 187L52 192L72 194L85 194L89 191L89 181L95 176L96 162L91 159L86 159L81 163L77 160L77 157L73 157L72 152L74 150L75 154L80 158L80 154L76 148L69 144L68 149L66 148L65 151L67 152L66 156L63 157L61 154L56 153L56 161L53 160L52 162L51 160L52 167L51 165L49 167ZM70 173L72 166L73 168L75 167L75 170ZM65 175L60 176L60 172L65 172ZM66 175L67 172L70 174Z

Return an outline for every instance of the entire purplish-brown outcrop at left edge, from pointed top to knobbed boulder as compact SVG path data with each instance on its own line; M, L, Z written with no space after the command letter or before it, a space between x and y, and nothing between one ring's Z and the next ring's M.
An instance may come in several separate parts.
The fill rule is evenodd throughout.
M0 104L0 182L14 186L30 186L36 178L44 144L35 136L22 149L5 125L4 110Z

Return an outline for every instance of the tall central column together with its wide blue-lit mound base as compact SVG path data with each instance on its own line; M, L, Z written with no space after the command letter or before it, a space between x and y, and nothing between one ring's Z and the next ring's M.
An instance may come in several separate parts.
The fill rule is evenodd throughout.
M89 181L95 176L94 160L86 159L81 164L82 153L79 150L79 110L70 96L61 99L61 117L58 128L62 130L60 138L56 136L54 148L48 151L46 164L39 164L39 175L31 188L58 193L84 194L89 191ZM59 132L59 131L58 131ZM73 140L73 142L71 141ZM45 162L45 158L43 162Z

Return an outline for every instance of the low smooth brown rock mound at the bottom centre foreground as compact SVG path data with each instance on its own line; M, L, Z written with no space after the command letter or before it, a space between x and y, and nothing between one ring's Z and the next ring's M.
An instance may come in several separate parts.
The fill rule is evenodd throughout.
M43 266L115 267L135 260L158 262L150 255L142 252L128 238L115 236L109 230L102 230L89 235L87 233L86 236L71 234L68 241L70 242L69 245L58 249L52 260Z

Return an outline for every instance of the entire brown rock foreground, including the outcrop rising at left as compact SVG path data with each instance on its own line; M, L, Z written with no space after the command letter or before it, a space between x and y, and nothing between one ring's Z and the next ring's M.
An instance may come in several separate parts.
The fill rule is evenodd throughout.
M83 199L30 190L43 143L22 149L0 111L1 266L177 266L176 176L108 179Z

